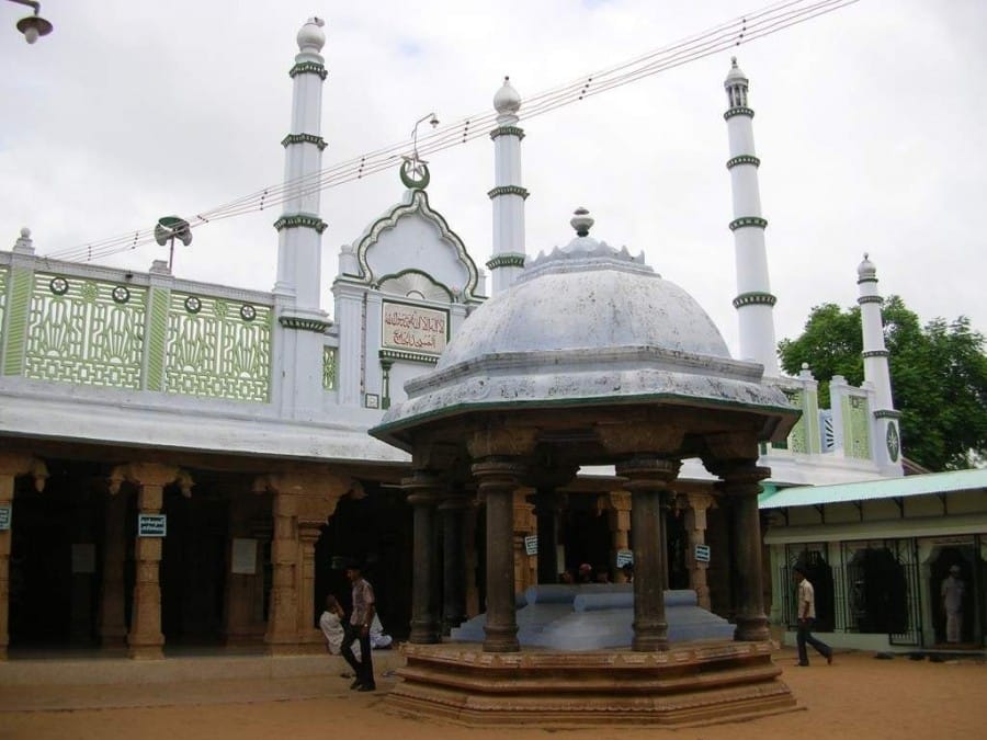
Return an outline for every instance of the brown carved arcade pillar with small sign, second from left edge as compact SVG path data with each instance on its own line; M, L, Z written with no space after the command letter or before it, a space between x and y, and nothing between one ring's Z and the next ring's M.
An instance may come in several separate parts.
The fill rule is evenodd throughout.
M137 487L138 514L160 514L164 504L164 487L178 482L182 493L191 494L192 480L186 473L157 463L132 463L115 468L110 475L110 493L116 496L126 480ZM135 660L160 660L164 657L161 634L161 537L141 537L134 544L135 582L127 635L129 656Z

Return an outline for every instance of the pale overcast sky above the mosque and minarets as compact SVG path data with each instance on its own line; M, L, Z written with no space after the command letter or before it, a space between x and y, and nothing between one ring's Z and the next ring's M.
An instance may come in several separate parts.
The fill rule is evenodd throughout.
M409 139L415 121L491 110L762 9L768 0L44 0L34 46L0 2L0 248L30 226L39 254L189 215L282 179L295 34L326 19L324 166ZM880 289L923 321L987 331L987 2L862 0L735 49L750 78L778 338L813 306ZM527 252L593 236L689 291L737 351L723 80L731 52L525 122ZM430 158L429 196L483 265L494 150ZM322 193L324 306L340 244L400 200L397 171ZM195 230L177 276L270 291L280 215ZM147 270L146 246L102 263ZM488 278L489 285L489 278Z

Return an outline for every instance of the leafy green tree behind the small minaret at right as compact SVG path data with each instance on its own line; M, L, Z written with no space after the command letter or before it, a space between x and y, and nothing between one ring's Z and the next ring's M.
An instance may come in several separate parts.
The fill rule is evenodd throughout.
M933 319L924 327L898 296L884 304L892 397L901 412L905 455L931 470L972 467L987 456L987 355L984 334L969 319ZM860 307L816 306L797 339L779 343L782 367L807 363L829 408L829 380L863 382Z

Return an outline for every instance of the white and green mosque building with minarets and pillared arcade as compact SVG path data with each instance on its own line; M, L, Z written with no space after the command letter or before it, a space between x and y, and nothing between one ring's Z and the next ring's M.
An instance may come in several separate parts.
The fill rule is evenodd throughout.
M367 430L407 400L406 384L435 369L473 311L525 270L522 100L506 80L494 101L486 270L429 202L428 169L412 157L400 201L341 249L330 312L319 297L328 277L320 193L292 189L322 169L321 21L307 22L297 43L282 141L292 197L274 225L270 292L183 280L158 261L138 273L46 259L27 229L0 252L0 657L79 645L137 659L172 645L321 651L319 606L326 593L345 594L337 557L366 563L385 625L407 635L412 459ZM901 479L869 260L859 271L866 382L835 378L831 408L820 409L809 368L779 371L753 111L736 62L725 88L740 358L762 365L764 383L801 412L783 440L761 444L765 496ZM737 573L722 554L731 550L735 512L716 504L715 482L697 462L683 463L662 510L668 580L734 617ZM606 467L583 468L559 492L557 517L544 513L538 490L513 494L515 587L583 562L620 580L632 551L631 493ZM462 588L450 588L456 597L443 606L446 631L481 612L486 596L485 512L474 493L440 508L441 542L466 554ZM973 578L983 573L987 527L962 536L976 550ZM781 579L795 561L843 562L818 540L783 539L764 558L775 624L789 614ZM924 602L909 596L919 604L909 618L931 608L934 594L924 593ZM976 629L971 638L983 640Z

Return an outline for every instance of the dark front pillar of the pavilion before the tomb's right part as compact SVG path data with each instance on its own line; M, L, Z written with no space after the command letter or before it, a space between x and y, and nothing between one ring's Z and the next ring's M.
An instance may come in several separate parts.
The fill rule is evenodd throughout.
M616 466L631 492L634 540L634 638L637 652L668 650L665 589L668 581L662 498L679 474L679 460L640 455Z

